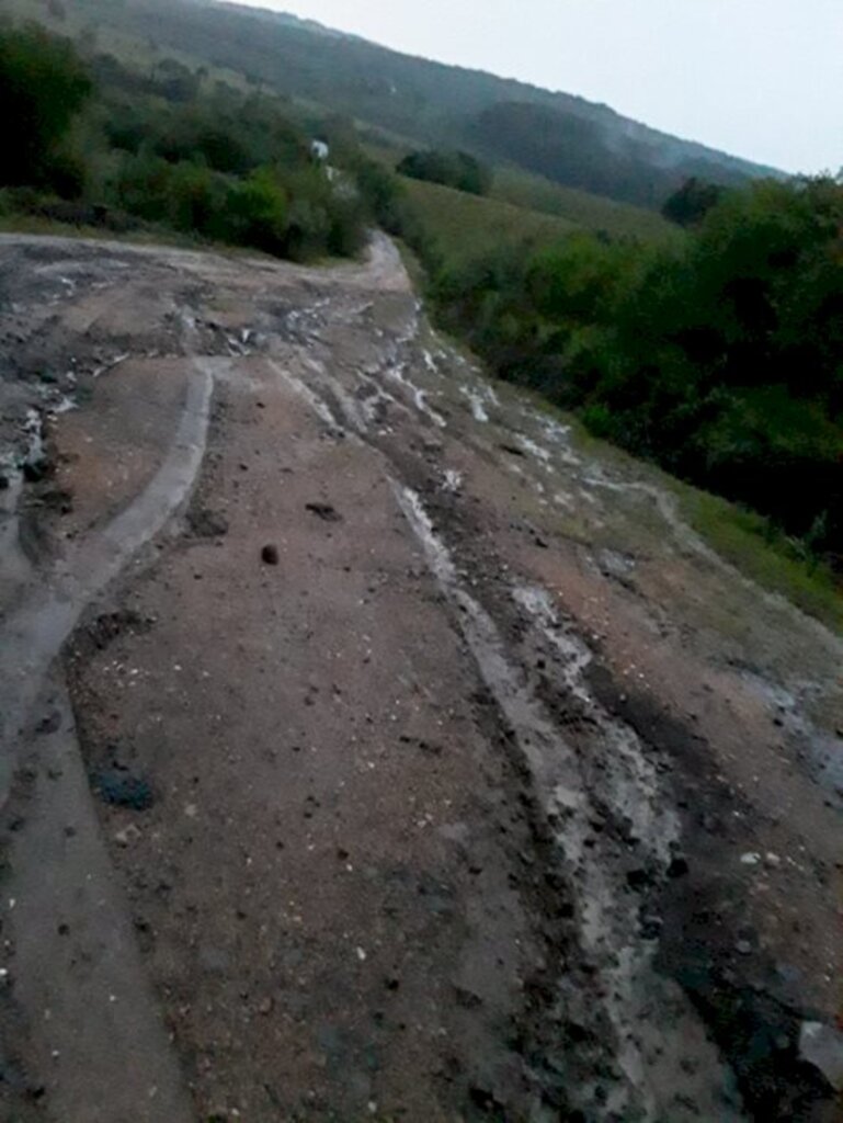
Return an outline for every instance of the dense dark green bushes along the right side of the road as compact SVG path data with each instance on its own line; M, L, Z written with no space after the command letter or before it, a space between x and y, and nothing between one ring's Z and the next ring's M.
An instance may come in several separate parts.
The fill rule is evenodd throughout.
M441 275L505 377L843 555L843 186L730 192L675 245L586 234Z

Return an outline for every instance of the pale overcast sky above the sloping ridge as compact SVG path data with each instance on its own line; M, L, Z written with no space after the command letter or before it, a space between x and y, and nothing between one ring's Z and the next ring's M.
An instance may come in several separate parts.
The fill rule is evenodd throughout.
M843 0L245 0L603 101L792 172L843 166Z

